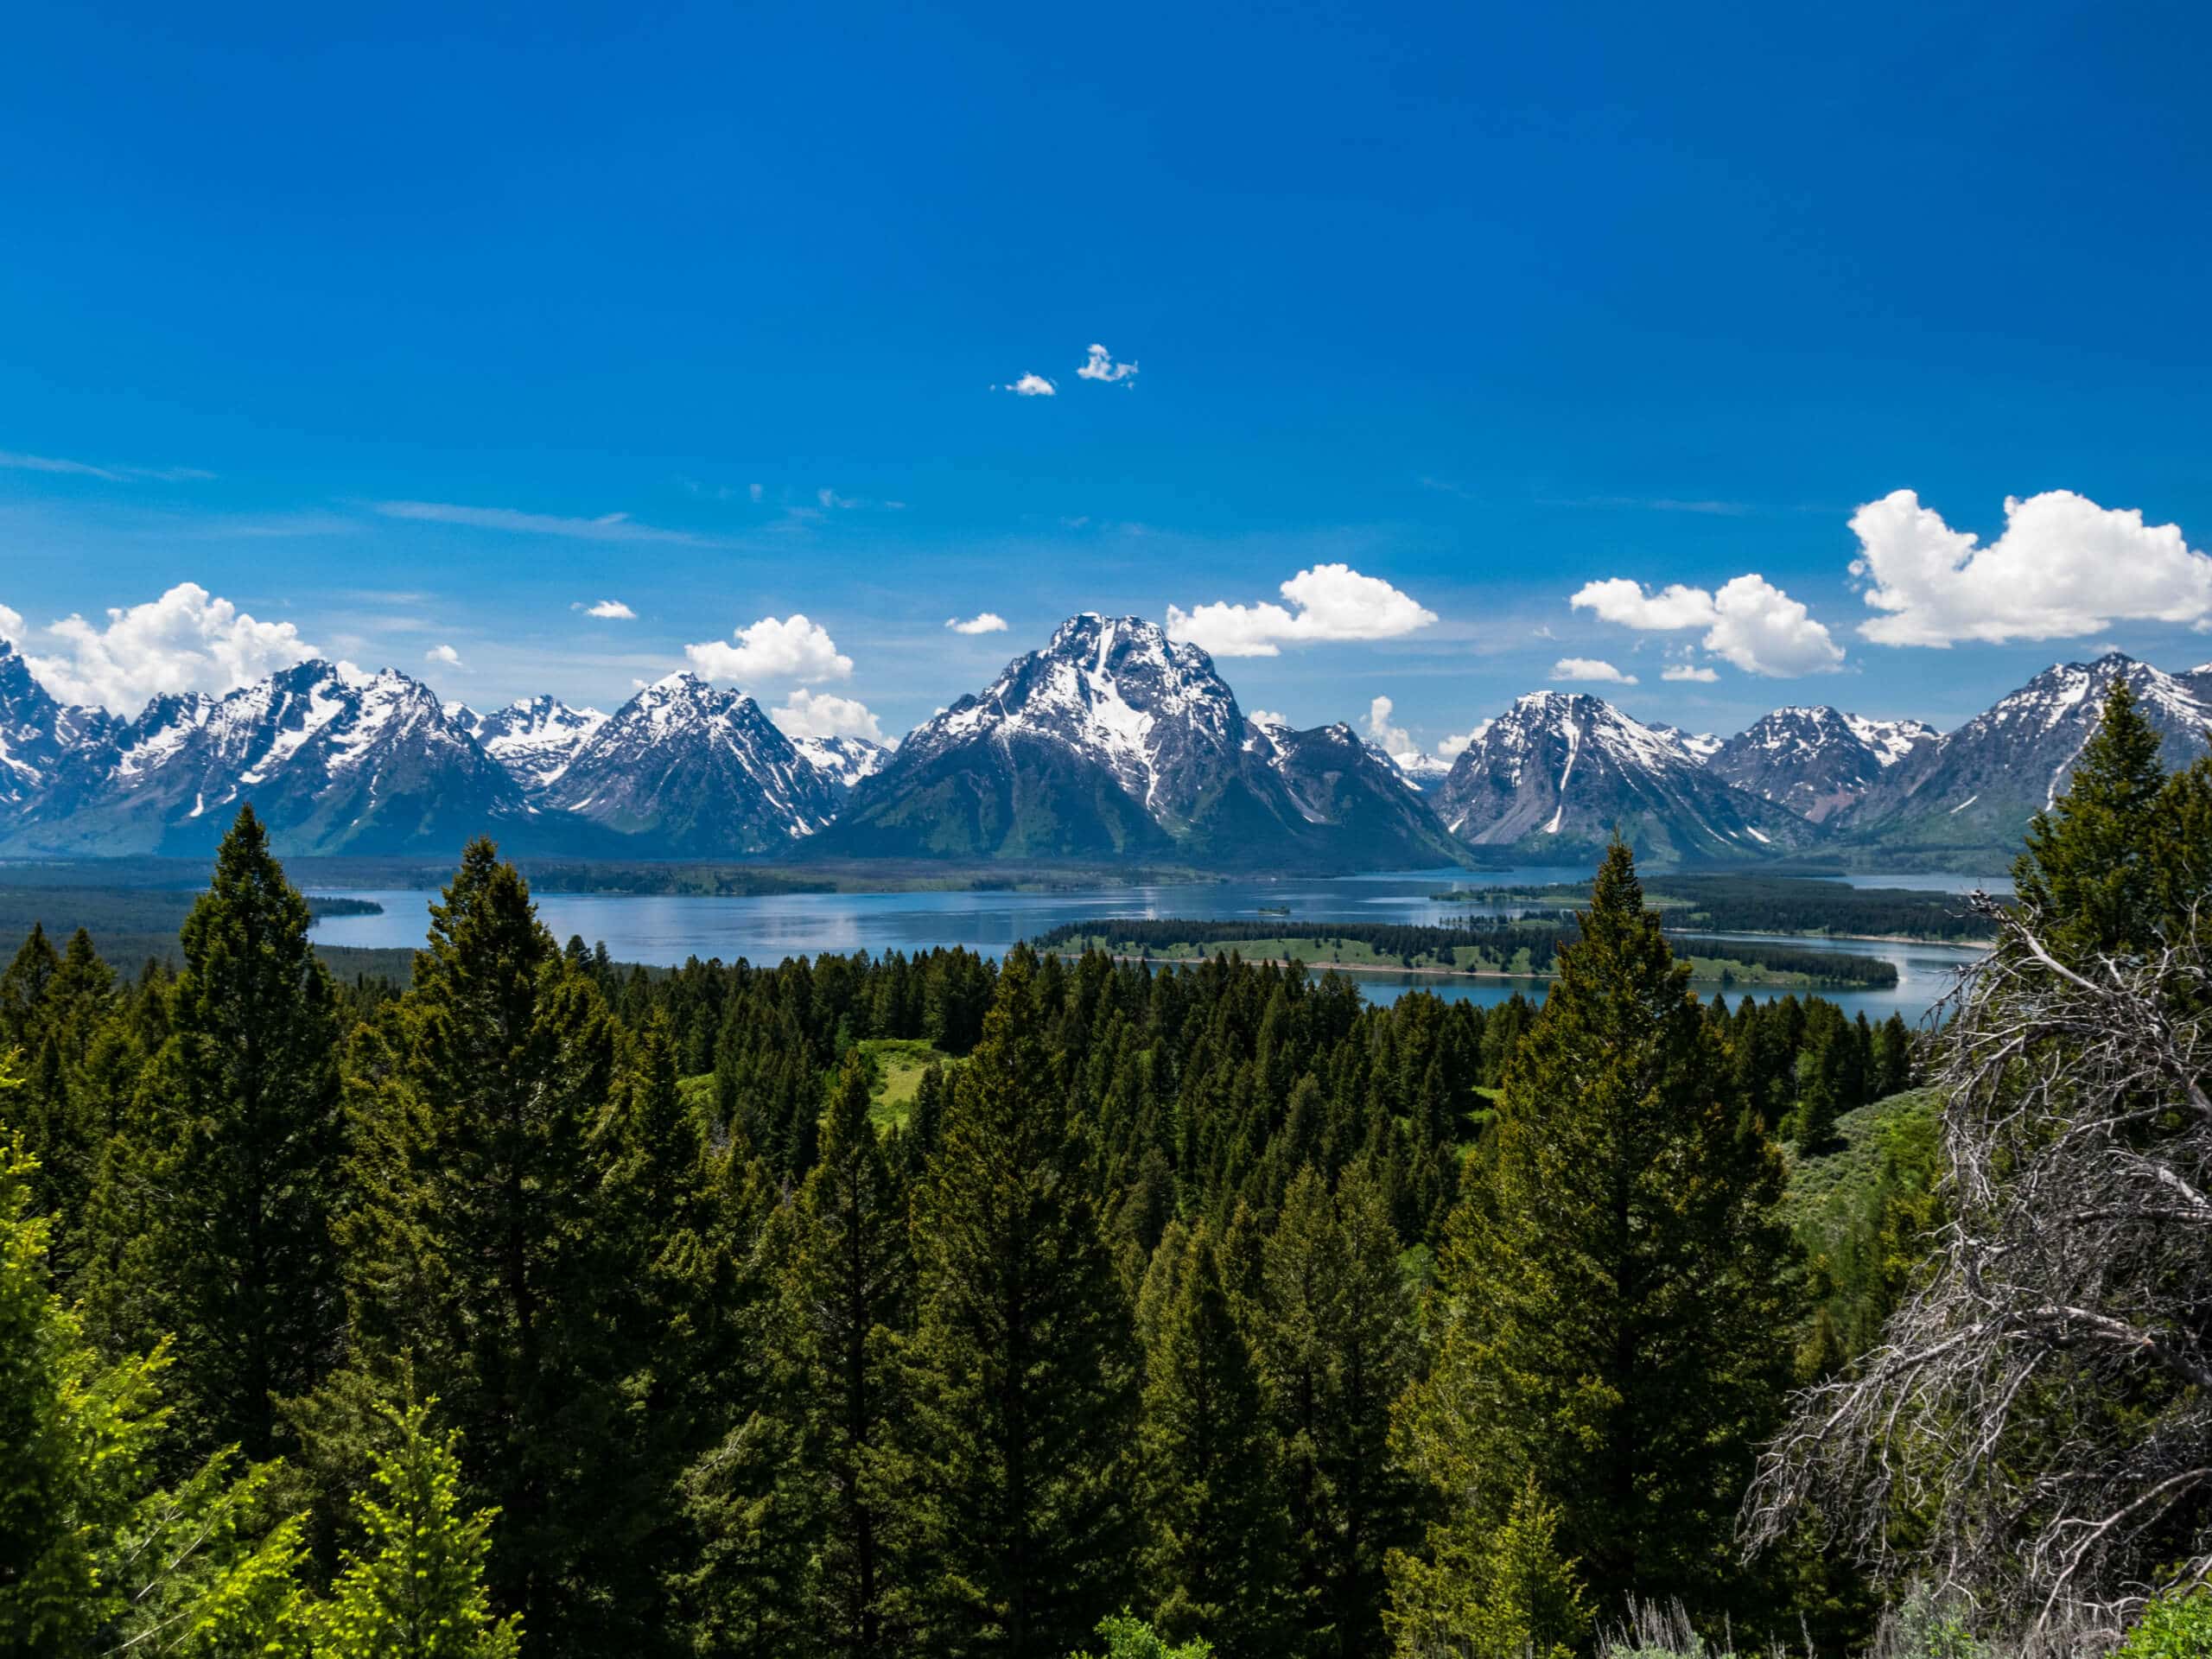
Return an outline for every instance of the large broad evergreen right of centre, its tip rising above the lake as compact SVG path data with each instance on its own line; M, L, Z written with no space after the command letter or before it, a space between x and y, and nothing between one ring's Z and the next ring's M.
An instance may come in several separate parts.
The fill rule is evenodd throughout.
M1579 922L1451 1219L1442 1343L1396 1440L1455 1513L1431 1564L1535 1482L1599 1606L1719 1610L1790 1367L1781 1161L1626 847ZM1413 1588L1400 1573L1394 1604Z

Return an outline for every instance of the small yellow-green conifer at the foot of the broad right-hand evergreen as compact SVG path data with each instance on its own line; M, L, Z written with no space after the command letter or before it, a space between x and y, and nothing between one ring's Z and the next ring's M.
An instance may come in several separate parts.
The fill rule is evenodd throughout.
M1427 1559L1394 1551L1383 1621L1400 1659L1571 1659L1590 1628L1559 1511L1522 1486L1504 1526L1429 1531Z

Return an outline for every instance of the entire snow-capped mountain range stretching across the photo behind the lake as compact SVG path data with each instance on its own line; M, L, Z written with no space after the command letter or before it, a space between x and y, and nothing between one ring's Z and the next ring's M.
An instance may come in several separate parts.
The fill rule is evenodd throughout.
M305 661L135 717L60 703L0 641L0 854L206 854L252 801L288 854L938 858L1409 869L1838 852L1989 867L2064 787L2115 677L2203 752L2212 664L2055 664L1953 732L1778 708L1734 737L1531 692L1449 765L1349 726L1256 721L1212 659L1141 617L1071 617L894 745L790 737L752 697L670 675L604 714L480 712Z

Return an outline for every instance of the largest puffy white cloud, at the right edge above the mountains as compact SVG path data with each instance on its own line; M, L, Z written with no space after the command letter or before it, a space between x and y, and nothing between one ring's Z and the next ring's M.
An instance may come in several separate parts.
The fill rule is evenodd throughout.
M1858 633L1880 646L2066 639L2112 622L2212 617L2212 557L2190 549L2179 524L2146 524L2135 509L2070 489L2008 495L2004 533L1989 546L1909 489L1851 513L1851 575L1887 613Z

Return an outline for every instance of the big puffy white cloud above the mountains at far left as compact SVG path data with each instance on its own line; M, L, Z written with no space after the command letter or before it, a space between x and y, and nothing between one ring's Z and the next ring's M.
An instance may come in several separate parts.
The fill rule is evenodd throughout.
M290 622L257 622L197 582L148 604L111 606L104 628L66 617L46 637L60 650L29 657L46 690L117 714L135 714L164 692L237 690L314 655Z

